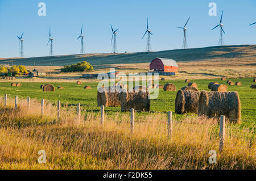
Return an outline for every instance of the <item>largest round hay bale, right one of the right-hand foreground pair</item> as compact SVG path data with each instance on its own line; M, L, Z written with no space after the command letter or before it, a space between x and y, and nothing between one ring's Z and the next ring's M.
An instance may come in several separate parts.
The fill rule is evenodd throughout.
M239 123L241 119L241 103L237 92L201 91L199 98L199 116L220 117Z

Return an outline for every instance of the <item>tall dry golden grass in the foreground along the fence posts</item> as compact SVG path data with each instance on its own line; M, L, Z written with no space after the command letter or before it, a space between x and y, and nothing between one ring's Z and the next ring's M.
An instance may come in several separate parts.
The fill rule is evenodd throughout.
M3 107L0 100L0 169L255 169L254 129L226 124L225 150L218 152L217 120L189 117L175 121L167 138L167 116L148 113L136 117L130 133L130 115L100 115L82 111L80 123L75 107L47 103L41 115L38 100L14 100ZM39 150L46 164L39 164ZM217 163L209 164L209 150L217 151Z

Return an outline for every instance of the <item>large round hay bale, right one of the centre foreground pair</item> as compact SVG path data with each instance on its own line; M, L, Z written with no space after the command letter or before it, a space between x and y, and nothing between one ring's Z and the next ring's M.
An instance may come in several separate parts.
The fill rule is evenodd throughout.
M122 92L120 95L121 111L150 111L150 92Z

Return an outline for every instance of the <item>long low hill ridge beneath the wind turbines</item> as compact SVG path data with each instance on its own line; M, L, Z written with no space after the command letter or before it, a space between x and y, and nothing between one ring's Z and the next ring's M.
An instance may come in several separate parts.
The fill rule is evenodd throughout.
M160 52L138 53L101 53L101 54L72 54L66 56L33 57L33 58L2 58L0 64L32 66L63 66L88 61L92 65L104 64L137 64L150 62L155 57L172 58L176 61L205 61L231 60L233 58L255 58L256 45L230 45L222 47L205 47L191 49L164 50Z

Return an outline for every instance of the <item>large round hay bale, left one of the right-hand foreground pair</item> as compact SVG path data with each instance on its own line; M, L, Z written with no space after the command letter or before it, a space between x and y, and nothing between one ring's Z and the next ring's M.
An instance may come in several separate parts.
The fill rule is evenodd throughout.
M179 90L175 99L175 112L198 112L200 91Z

